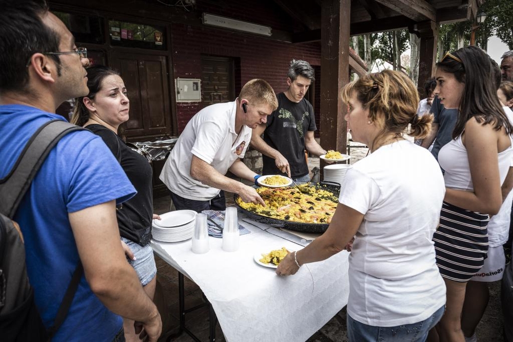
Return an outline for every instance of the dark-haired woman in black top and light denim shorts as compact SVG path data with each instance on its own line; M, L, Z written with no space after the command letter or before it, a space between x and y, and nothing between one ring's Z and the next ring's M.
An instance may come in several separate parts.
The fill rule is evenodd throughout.
M109 67L87 68L89 94L76 99L72 123L84 126L102 137L117 158L137 194L118 208L117 224L127 259L141 280L146 294L153 299L156 266L151 239L153 214L152 168L145 157L136 153L117 136L119 126L128 120L130 102L120 75ZM139 340L134 321L123 320L127 341Z

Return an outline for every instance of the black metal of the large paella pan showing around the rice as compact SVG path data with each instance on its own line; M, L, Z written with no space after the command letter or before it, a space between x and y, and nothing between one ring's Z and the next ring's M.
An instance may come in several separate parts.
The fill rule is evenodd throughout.
M311 183L311 186L315 188L322 188L328 191L331 191L333 195L339 197L340 193L340 184L331 183L331 182L321 182L321 183ZM303 233L324 233L329 226L329 223L303 223L303 222L292 222L281 219L274 219L268 216L264 216L261 214L252 213L244 208L242 208L239 203L237 203L237 199L239 195L233 194L233 201L235 205L238 207L238 210L246 214L251 219L261 222L264 224L269 224L274 227L286 228L291 231L303 232Z

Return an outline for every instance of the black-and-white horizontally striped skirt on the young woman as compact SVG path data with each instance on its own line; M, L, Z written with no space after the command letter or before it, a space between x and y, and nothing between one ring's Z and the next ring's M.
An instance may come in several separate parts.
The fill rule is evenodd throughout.
M442 277L465 282L483 267L488 251L488 215L444 202L433 235Z

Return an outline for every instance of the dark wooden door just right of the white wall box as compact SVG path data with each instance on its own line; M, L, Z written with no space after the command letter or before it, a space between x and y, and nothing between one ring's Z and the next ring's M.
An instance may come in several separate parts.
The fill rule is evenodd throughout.
M233 69L234 62L231 58L201 57L202 108L235 100Z

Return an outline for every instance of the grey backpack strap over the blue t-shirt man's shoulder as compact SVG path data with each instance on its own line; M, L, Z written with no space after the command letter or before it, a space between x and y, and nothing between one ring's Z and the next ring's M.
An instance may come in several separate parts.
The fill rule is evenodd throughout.
M81 129L83 128L56 119L45 123L32 135L9 175L0 180L0 213L10 218L14 216L50 150L66 134Z

